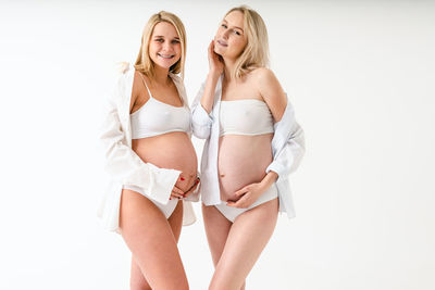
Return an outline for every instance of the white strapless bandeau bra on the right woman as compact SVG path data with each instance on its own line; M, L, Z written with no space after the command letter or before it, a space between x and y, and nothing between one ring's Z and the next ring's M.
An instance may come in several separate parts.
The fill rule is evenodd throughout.
M273 117L265 102L257 99L221 101L220 134L262 135L273 133Z

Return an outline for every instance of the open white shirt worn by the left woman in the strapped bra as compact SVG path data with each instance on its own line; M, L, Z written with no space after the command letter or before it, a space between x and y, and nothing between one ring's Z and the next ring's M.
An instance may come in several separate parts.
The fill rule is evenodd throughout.
M139 187L149 199L166 204L182 173L181 171L160 168L151 163L145 163L132 150L129 104L134 75L133 65L125 64L122 67L122 74L109 99L108 112L100 136L105 153L104 167L111 180L102 194L97 214L102 218L104 228L116 232L120 232L120 202L123 185ZM188 103L182 79L174 74L170 75L183 102ZM190 137L191 133L188 133L188 135ZM183 225L195 223L196 217L190 201L198 201L198 194L197 190L183 200Z

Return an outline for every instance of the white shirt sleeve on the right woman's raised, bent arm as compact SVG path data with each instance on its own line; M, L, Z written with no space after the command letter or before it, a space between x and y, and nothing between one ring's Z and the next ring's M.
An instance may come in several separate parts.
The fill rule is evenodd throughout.
M201 105L201 98L204 91L204 86L206 85L202 84L197 97L191 104L192 130L194 135L200 139L207 139L210 137L211 126L213 124L213 118L211 114L208 114Z

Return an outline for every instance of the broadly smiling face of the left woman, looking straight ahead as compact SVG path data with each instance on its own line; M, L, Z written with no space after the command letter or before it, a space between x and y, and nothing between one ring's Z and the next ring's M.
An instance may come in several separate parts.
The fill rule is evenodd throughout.
M167 22L156 24L148 51L156 65L162 68L174 65L182 55L179 36L175 27Z

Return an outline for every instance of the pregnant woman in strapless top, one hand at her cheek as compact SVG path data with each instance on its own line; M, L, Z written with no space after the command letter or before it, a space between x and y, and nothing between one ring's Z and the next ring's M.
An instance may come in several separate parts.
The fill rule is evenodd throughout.
M288 174L303 155L303 131L266 68L268 34L247 7L229 10L209 46L209 75L192 103L201 161L206 234L215 266L209 289L245 289L278 212L294 216Z

